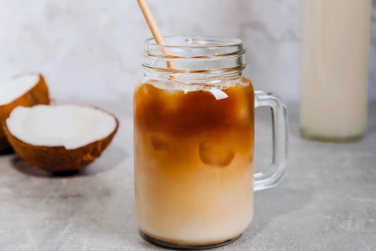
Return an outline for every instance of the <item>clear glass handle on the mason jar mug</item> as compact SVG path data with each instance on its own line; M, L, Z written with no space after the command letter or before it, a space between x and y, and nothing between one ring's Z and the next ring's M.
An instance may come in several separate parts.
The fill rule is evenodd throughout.
M255 173L254 190L267 189L278 184L286 171L288 148L287 109L280 97L263 91L255 91L255 108L271 107L273 125L273 157L269 170L265 173Z

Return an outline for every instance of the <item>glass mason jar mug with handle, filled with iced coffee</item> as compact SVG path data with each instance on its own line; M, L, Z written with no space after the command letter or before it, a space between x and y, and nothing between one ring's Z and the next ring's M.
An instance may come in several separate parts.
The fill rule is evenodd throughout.
M146 41L134 92L139 229L156 243L207 248L237 239L253 218L253 191L276 185L287 159L287 113L255 92L237 39ZM254 108L271 106L273 158L254 175Z

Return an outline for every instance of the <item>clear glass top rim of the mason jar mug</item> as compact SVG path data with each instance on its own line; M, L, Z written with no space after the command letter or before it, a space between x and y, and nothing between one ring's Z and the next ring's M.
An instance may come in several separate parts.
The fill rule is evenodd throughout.
M180 48L180 49L211 49L211 48L231 48L242 46L243 41L239 38L226 38L217 36L167 36L164 37L167 42L170 39L179 39L187 43L196 44L214 44L212 46L172 46L172 45L161 45L156 44L154 38L148 38L144 41L145 45L151 45L153 47L160 48ZM154 42L154 43L153 43Z

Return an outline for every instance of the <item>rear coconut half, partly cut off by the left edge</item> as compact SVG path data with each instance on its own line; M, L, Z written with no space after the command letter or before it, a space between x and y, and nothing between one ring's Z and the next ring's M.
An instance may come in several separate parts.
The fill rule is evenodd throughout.
M44 77L40 73L16 75L0 83L0 124L5 122L17 106L48 105L50 96ZM0 150L10 147L0 126Z

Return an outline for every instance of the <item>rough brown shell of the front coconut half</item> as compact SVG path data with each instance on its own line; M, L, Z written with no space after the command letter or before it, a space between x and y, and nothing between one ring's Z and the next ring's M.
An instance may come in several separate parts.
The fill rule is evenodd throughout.
M6 123L3 123L3 128L14 151L30 165L48 172L74 171L92 163L111 143L119 128L117 118L114 114L111 114L111 116L116 120L116 128L110 135L102 140L71 150L65 149L64 146L33 146L13 136Z

